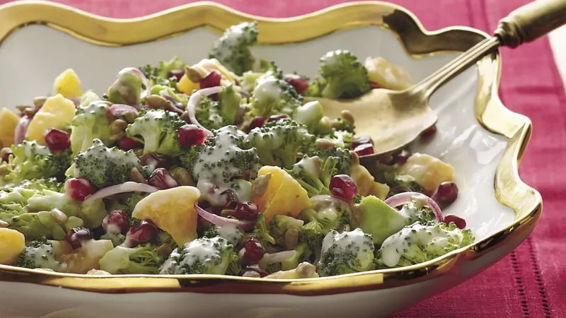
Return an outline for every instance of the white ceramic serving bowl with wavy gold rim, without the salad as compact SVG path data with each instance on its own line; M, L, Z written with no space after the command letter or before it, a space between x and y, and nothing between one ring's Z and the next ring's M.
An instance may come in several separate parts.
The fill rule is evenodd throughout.
M314 76L331 49L383 56L415 81L487 35L470 28L425 31L417 18L385 3L347 4L292 19L266 19L214 4L193 4L146 18L113 20L45 3L0 6L0 90L3 107L30 104L73 68L83 88L103 92L125 66L178 55L207 56L219 31L259 21L254 52L284 71ZM93 277L0 266L0 312L68 317L376 317L461 283L524 240L541 213L541 196L519 179L528 118L497 97L499 56L491 54L435 93L438 134L415 150L456 168L459 197L444 213L466 218L473 245L402 269L265 281L224 276ZM62 288L59 288L62 287ZM6 292L9 290L9 292ZM104 309L102 309L104 308ZM61 312L62 311L62 312Z

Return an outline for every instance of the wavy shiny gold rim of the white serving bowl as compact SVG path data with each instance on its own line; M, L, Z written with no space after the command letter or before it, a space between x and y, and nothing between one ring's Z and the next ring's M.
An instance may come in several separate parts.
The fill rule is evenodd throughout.
M405 8L379 1L341 4L294 18L262 18L212 2L172 8L150 16L114 19L96 16L69 6L40 1L0 6L0 44L18 28L43 24L96 45L122 46L172 37L194 28L218 32L243 20L258 20L260 44L278 45L311 40L338 30L376 25L394 33L413 57L442 52L463 52L488 35L466 27L434 32L425 30ZM383 269L325 278L275 280L236 276L122 275L89 276L52 273L0 265L0 281L60 286L98 293L198 292L275 293L330 295L410 285L458 271L466 261L482 257L502 245L516 245L533 230L542 211L541 195L519 177L519 160L531 136L528 117L507 110L499 100L500 59L494 52L481 59L475 115L485 129L509 139L494 179L495 196L515 212L514 222L483 240L449 252L443 257L399 269Z

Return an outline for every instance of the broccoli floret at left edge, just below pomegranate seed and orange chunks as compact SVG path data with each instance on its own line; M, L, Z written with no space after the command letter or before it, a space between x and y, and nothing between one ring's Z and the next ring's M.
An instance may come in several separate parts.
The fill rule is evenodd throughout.
M8 163L0 165L0 184L19 184L25 179L57 177L63 179L69 167L70 153L62 151L52 153L46 146L37 141L23 141L11 146L13 156Z

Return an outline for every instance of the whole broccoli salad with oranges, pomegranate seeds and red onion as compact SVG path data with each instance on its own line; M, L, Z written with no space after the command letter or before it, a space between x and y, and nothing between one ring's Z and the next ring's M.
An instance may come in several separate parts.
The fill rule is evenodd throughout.
M406 88L402 69L337 49L309 79L254 57L257 37L256 23L233 25L195 64L126 67L106 92L67 69L50 96L1 110L0 264L316 278L475 240L441 211L454 167L403 149L370 173L354 115L326 117L316 100Z

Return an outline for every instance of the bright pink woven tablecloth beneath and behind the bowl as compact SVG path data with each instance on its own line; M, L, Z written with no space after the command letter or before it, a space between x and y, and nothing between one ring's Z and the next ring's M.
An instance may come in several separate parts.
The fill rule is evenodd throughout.
M0 0L4 4L5 0ZM187 0L59 0L84 11L133 18ZM296 16L344 0L219 0L246 13ZM468 25L491 32L497 20L527 0L391 0L415 13L425 28ZM502 49L501 98L531 117L533 137L521 177L543 195L532 235L507 257L466 283L400 312L398 317L566 317L566 95L547 39Z

